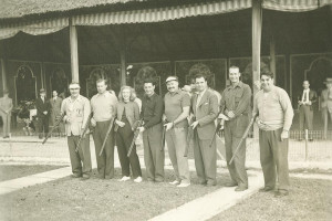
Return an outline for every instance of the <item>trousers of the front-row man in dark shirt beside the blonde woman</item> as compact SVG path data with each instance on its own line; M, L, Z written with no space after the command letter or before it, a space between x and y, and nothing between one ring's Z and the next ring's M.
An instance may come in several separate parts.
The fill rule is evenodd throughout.
M148 181L164 181L165 151L162 147L162 124L143 131L144 162Z

